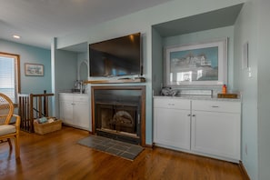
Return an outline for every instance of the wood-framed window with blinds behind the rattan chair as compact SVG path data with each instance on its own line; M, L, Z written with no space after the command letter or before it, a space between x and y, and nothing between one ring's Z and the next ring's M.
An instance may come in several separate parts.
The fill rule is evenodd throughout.
M0 52L0 92L17 104L20 93L20 55Z

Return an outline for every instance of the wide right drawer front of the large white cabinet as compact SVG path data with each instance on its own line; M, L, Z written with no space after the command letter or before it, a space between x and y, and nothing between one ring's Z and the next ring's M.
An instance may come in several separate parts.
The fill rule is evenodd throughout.
M241 102L194 100L194 101L192 101L192 110L240 113L241 112Z

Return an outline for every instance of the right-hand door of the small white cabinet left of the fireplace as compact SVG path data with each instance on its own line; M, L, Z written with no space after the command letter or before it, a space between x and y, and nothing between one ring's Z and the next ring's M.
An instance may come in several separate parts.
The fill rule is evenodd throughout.
M88 101L74 101L75 125L89 129L89 111Z

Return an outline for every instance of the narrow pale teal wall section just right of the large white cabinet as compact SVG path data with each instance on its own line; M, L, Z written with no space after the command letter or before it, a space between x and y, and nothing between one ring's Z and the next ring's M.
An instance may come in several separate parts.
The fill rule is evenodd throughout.
M252 179L258 179L257 13L255 2L247 2L235 22L235 88L239 89L243 98L242 161ZM242 51L246 42L249 45L248 65L252 77L248 77L248 69L242 68Z

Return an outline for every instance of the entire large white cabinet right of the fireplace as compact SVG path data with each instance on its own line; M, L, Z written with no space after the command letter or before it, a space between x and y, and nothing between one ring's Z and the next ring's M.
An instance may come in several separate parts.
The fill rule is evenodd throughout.
M241 102L155 97L154 143L239 162Z

